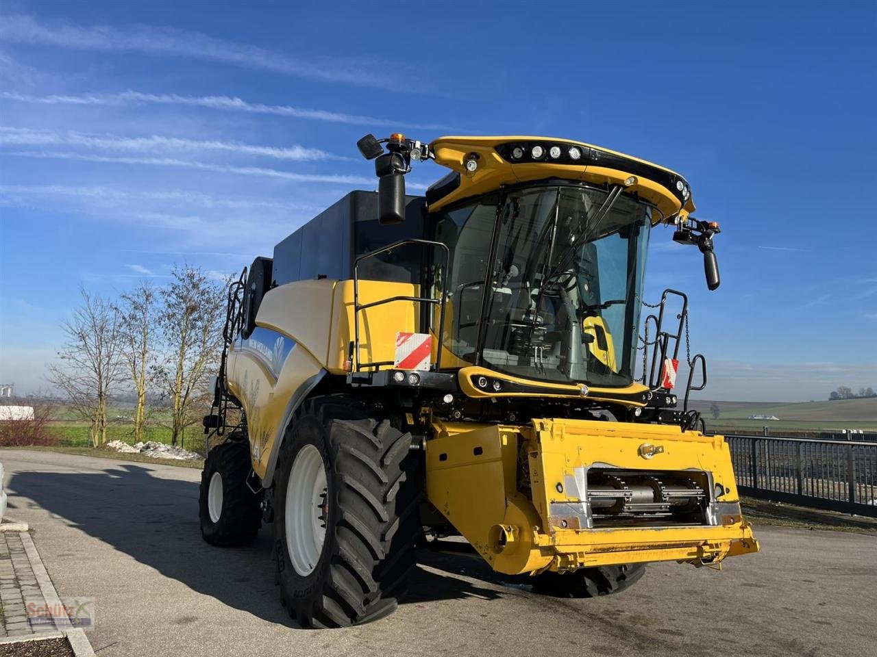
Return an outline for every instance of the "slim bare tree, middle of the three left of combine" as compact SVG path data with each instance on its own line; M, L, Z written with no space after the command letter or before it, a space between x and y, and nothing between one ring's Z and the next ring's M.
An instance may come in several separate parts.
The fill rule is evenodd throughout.
M134 386L137 401L134 410L134 442L143 440L146 424L146 391L155 342L156 291L149 281L141 282L132 292L122 294L118 309L121 320L122 355Z

